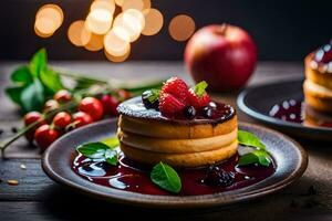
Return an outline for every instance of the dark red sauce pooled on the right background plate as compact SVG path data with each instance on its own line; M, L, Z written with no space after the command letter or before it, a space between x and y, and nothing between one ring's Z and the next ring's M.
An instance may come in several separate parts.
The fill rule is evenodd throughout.
M332 127L332 116L314 110L303 101L288 99L276 104L269 112L271 117L312 127Z

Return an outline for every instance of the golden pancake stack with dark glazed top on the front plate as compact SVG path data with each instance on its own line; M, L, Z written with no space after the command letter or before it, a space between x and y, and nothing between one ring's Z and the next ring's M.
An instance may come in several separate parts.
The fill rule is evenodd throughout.
M118 137L126 157L174 167L212 165L237 152L237 116L232 107L222 119L168 119L145 109L137 98L118 107Z

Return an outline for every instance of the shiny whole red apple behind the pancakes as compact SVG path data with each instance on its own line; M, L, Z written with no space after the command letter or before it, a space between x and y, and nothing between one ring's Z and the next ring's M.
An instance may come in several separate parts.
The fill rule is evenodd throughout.
M230 24L198 30L185 51L186 65L195 82L206 81L209 91L227 92L246 84L257 62L251 36Z

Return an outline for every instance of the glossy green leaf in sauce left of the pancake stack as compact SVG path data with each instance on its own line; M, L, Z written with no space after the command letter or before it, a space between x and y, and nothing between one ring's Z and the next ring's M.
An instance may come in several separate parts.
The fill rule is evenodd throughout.
M76 150L84 157L104 160L113 166L116 166L118 160L117 151L104 143L89 143L80 145L76 147Z

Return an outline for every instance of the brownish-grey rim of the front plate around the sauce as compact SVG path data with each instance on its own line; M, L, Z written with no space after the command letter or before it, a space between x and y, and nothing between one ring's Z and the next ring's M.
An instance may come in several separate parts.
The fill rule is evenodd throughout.
M71 165L75 147L113 136L117 129L116 119L100 122L63 136L44 152L42 168L54 181L82 193L112 202L149 208L206 208L230 204L276 192L302 176L308 157L298 143L280 133L251 124L241 123L240 128L261 138L277 162L277 170L261 182L234 191L189 197L151 196L94 185L74 173Z

